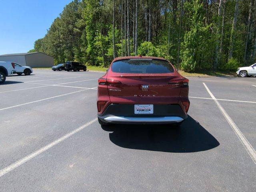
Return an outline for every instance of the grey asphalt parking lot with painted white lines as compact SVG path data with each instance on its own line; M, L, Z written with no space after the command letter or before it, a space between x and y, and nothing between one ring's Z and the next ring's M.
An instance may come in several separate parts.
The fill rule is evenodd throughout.
M189 117L100 126L100 72L0 85L0 191L256 191L256 78L190 78Z

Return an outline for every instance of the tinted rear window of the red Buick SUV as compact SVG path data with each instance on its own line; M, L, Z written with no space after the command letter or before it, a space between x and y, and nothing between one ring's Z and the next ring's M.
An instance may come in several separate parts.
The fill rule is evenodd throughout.
M168 61L157 59L125 59L112 64L116 73L173 73L174 68Z

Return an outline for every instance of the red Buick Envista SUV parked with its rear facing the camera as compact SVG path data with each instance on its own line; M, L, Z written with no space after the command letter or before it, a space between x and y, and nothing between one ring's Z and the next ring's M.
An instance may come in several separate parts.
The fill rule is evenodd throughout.
M179 125L188 117L188 81L164 58L115 58L98 79L98 121Z

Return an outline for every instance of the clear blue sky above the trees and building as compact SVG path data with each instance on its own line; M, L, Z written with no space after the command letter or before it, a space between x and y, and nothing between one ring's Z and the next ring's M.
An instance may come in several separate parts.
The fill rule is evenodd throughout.
M0 0L0 55L28 52L72 0Z

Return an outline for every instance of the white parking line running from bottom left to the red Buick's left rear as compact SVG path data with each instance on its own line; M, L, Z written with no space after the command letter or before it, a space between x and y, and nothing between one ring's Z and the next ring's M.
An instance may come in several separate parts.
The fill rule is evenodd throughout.
M33 152L32 154L30 154L30 155L28 155L28 156L26 156L26 157L24 157L24 158L22 158L22 159L16 161L15 163L13 163L13 164L11 164L11 165L9 165L9 166L3 168L2 170L0 170L0 177L3 176L4 174L8 173L9 171L11 171L11 170L17 168L18 166L24 164L25 162L27 162L28 160L34 158L35 156L41 154L42 152L44 152L44 151L46 151L46 150L52 148L52 147L55 146L56 144L58 144L58 143L64 141L65 139L69 138L70 136L74 135L75 133L77 133L77 132L83 130L84 128L88 127L90 124L96 122L96 120L97 120L97 118L95 118L95 119L93 119L93 120L87 122L86 124L84 124L84 125L78 127L77 129L75 129L75 130L69 132L68 134L66 134L66 135L64 135L64 136L62 136L62 137L60 137L60 138L58 138L58 139L55 140L54 142L51 142L50 144L48 144L48 145L46 145L46 146L40 148L39 150Z

